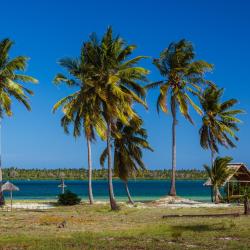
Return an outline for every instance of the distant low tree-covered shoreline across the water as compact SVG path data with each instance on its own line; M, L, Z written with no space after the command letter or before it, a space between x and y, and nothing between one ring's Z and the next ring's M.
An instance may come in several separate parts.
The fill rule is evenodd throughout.
M94 169L93 179L107 179L108 172L106 169ZM145 180L162 180L170 179L171 170L142 170L130 178ZM88 170L84 168L57 168L57 169L24 169L24 168L4 168L4 180L55 180L64 178L65 180L87 180ZM118 176L114 175L114 178ZM203 170L198 169L181 169L176 171L176 178L181 180L200 180L206 179L207 174Z

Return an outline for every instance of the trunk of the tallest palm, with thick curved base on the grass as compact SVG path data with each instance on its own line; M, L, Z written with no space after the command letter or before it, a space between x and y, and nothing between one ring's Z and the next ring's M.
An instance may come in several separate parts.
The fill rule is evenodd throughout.
M111 210L118 210L119 207L115 201L113 182L112 182L112 155L111 155L111 123L107 124L107 149L108 149L108 188Z

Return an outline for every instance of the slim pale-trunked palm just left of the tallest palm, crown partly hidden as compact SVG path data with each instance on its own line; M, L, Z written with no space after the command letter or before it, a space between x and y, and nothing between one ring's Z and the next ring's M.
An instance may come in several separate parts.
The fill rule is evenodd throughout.
M91 72L86 57L86 46L86 43L82 46L79 58L64 58L59 61L59 64L69 72L72 78L60 73L54 79L55 84L66 83L69 87L76 87L77 90L59 100L54 105L53 111L62 106L64 116L61 119L61 125L66 133L69 133L69 125L73 124L73 135L75 137L79 137L82 130L85 134L88 151L89 203L93 204L91 142L95 140L95 130L104 139L106 127L100 115L99 105L93 95L93 89L88 88L86 83Z

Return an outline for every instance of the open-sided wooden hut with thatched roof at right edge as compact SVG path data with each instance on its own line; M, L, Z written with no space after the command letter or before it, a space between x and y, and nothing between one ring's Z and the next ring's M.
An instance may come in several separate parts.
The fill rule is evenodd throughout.
M227 200L239 199L243 197L244 190L250 189L250 171L244 163L230 163L228 168L232 174L226 179L223 186L227 194ZM211 186L211 180L208 179L204 186Z

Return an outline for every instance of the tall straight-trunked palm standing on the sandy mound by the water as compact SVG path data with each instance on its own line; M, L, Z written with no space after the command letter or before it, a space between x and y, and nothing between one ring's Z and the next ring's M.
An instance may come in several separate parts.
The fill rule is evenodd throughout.
M172 114L172 175L169 195L176 196L175 172L176 172L176 125L177 108L181 114L191 123L188 108L191 105L199 114L201 109L193 102L190 94L199 95L201 86L207 81L204 74L212 69L212 65L202 61L194 61L193 45L180 40L171 43L169 47L162 51L159 59L154 59L153 63L158 68L160 74L165 78L159 82L151 83L148 89L160 87L160 95L157 100L157 111L161 109L168 113L168 102Z

